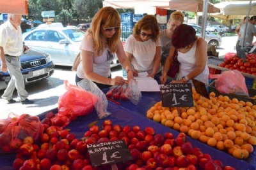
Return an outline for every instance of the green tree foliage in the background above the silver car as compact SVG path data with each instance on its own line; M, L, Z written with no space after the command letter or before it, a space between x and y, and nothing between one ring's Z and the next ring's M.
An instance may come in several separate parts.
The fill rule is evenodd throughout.
M102 0L29 0L27 20L43 20L42 11L54 11L54 22L63 25L90 23L102 8ZM117 9L119 13L134 11L133 9Z

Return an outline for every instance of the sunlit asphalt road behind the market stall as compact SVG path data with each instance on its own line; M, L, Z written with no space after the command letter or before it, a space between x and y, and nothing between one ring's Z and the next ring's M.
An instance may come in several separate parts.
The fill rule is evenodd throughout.
M219 56L223 57L227 52L236 52L236 50L234 50L236 41L237 36L223 37L222 45L217 48ZM26 85L26 90L29 93L28 99L35 101L34 104L22 105L20 102L6 104L6 100L0 99L0 119L7 118L10 113L15 113L17 115L23 113L38 115L45 111L57 108L59 97L67 91L63 82L67 80L71 84L76 84L76 73L70 69L71 67L56 66L54 74L52 74L51 77ZM114 67L111 70L113 77L117 75L122 76L121 67ZM3 90L0 90L0 96L2 96L3 92ZM17 91L15 90L13 94L13 99L17 100Z

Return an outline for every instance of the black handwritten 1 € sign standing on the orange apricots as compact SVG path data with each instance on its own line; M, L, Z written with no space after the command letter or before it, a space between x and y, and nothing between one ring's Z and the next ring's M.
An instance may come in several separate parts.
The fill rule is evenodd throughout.
M194 106L191 83L161 84L160 90L164 107Z

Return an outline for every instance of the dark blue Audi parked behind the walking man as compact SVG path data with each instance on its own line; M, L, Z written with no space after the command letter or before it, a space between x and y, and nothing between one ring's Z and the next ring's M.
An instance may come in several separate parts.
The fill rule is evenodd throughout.
M0 60L0 67L1 67ZM51 76L54 73L54 62L51 55L38 50L29 49L20 55L20 70L23 74L25 84L34 83ZM11 80L8 71L0 71L0 90L6 89Z

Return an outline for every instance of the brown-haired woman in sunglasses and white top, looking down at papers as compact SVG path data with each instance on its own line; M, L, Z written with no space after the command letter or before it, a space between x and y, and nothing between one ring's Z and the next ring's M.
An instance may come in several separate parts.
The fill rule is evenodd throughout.
M148 76L159 80L161 45L154 15L145 15L134 25L132 35L125 41L124 50L134 67L134 76L138 76L138 72L147 71Z

